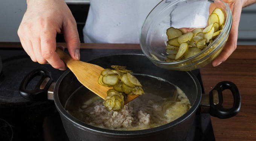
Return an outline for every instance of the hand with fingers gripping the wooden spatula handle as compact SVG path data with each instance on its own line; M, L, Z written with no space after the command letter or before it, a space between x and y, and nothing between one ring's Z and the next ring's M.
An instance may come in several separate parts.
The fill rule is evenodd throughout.
M53 68L66 70L56 50L56 34L63 33L73 59L80 59L80 40L76 21L64 0L27 0L27 10L18 36L32 61L47 62Z

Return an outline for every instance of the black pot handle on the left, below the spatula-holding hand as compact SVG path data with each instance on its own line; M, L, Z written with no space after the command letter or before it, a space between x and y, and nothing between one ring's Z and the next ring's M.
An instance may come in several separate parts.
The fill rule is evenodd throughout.
M27 85L36 76L41 76L41 79L38 81L35 89L27 90ZM47 100L47 90L52 82L53 79L50 76L49 71L43 69L33 70L21 81L19 93L22 97L28 100Z

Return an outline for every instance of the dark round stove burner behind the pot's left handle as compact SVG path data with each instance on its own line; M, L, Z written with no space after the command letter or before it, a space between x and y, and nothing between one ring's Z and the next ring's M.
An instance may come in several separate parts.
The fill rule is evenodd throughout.
M27 56L16 56L3 60L3 70L0 76L0 102L4 103L26 103L28 100L20 96L18 89L21 80L32 70L43 68L51 72L54 80L62 74L60 70L52 68L50 65L41 65L32 62ZM33 81L28 89L34 89L37 81Z

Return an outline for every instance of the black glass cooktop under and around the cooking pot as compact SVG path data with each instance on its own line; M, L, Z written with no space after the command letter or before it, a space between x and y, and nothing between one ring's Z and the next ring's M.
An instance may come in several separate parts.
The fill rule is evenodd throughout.
M88 61L105 55L136 53L141 50L81 49L81 60ZM3 71L0 73L0 141L69 141L53 101L29 102L18 93L21 80L30 71L44 68L56 82L64 71L50 65L32 62L22 49L1 48ZM200 81L200 70L192 71ZM34 88L37 78L27 86ZM209 114L197 112L187 141L215 141Z

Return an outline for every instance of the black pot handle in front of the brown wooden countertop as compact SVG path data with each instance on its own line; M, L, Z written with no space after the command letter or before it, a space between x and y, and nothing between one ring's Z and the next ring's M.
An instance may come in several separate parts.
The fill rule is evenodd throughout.
M223 108L222 91L230 89L233 94L232 108ZM241 108L241 96L237 86L229 81L219 82L209 93L210 115L218 118L230 118L238 114Z

